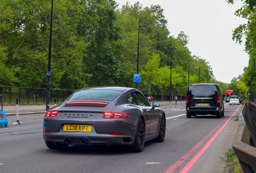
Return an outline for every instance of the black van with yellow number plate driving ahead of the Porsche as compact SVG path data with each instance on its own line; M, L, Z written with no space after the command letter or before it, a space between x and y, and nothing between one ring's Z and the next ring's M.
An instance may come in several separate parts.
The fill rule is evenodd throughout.
M215 84L190 84L186 95L187 118L196 115L224 117L224 102L221 89Z

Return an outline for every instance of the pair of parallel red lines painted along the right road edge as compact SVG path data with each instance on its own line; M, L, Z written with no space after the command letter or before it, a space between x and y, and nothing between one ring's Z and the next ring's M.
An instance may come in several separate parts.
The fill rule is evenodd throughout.
M227 120L223 120L221 121L221 123L219 123L219 125L217 127L215 127L208 135L206 135L198 144L196 144L196 146L194 146L190 151L188 151L188 153L186 153L182 158L180 158L176 163L174 163L171 167L169 167L169 169L167 169L164 173L172 173L173 171L175 171L175 169L177 169L184 161L186 161L186 159L188 159L188 157L190 157L190 155L192 155L201 145L202 143L204 143L204 141L206 141L206 139L211 136L211 134L218 129L221 124L226 121L223 126L213 135L213 137L211 137L211 139L206 143L206 145L204 145L204 147L202 147L202 149L190 160L190 162L188 162L188 164L180 171L180 173L186 173L188 172L188 170L194 165L194 163L196 163L196 161L199 159L199 157L204 153L204 151L211 145L211 143L214 141L214 139L217 137L217 135L219 135L219 133L222 131L222 129L227 125L227 123L229 122L229 120L233 117L233 115L235 115L235 113L239 110L239 108L237 108L235 110L235 112L229 117L229 119Z

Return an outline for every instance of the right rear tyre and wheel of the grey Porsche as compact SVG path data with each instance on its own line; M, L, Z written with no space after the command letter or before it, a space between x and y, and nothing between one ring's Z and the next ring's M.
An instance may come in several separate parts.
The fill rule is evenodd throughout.
M139 153L143 150L145 145L145 125L141 117L139 118L134 143L132 145L132 150Z

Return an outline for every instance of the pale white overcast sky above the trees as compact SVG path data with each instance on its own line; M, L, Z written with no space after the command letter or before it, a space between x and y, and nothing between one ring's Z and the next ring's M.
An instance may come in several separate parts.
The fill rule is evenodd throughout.
M136 0L115 0L119 5ZM220 82L230 83L233 77L244 73L248 66L248 54L244 42L232 40L233 30L246 19L235 16L235 10L243 5L240 0L228 4L226 0L137 0L143 7L160 5L168 21L170 35L177 37L180 31L189 36L187 45L192 55L209 62L213 75Z

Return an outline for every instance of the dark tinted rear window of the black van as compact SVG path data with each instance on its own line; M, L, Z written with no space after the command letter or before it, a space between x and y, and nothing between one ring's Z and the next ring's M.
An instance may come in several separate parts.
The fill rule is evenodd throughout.
M200 98L213 98L218 95L216 86L194 85L188 88L188 96Z

